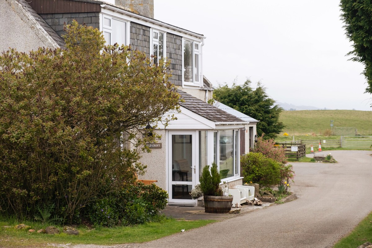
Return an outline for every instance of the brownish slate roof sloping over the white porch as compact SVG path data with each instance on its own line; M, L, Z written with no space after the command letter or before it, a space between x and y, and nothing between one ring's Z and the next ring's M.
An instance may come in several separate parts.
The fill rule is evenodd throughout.
M185 91L177 90L177 92L181 95L181 99L184 100L184 102L179 103L180 106L185 107L208 120L213 122L243 122L241 119L219 109L218 107L203 102Z

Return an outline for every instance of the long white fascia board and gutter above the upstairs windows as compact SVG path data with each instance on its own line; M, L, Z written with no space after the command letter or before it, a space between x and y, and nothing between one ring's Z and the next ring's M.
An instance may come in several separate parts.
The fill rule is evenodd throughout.
M160 22L158 20L151 19L145 16L137 15L135 13L132 13L132 12L129 12L123 9L119 9L117 7L114 7L108 4L101 4L101 13L105 13L108 15L115 15L124 20L128 20L129 22L135 22L135 23L148 26L150 28L155 28L155 29L167 32L167 33L173 33L175 35L179 35L187 39L191 39L191 40L198 41L198 42L202 42L202 40L206 38L205 36L200 35L198 33L194 33L194 32L182 29L182 28L177 28L167 23Z

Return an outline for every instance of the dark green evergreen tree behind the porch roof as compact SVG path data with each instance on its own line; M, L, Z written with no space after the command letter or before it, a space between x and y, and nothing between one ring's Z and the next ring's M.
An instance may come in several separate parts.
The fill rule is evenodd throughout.
M259 120L257 123L257 135L264 133L264 138L275 138L282 131L284 125L279 122L279 115L282 108L274 105L275 101L266 94L266 88L258 82L256 89L251 87L248 79L243 85L236 85L231 88L225 84L214 90L214 97L219 102L226 104L246 115Z

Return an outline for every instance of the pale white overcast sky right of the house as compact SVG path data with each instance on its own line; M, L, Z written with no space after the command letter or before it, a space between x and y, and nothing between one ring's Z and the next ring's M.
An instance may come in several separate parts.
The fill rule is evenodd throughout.
M213 83L261 81L278 102L372 110L363 65L351 51L337 0L154 0L154 18L202 33Z

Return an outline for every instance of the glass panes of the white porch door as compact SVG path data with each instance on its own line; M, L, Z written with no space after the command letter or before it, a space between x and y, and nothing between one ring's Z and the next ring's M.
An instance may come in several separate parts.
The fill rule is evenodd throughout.
M191 199L192 185L182 182L192 182L192 149L192 135L172 135L173 199Z

